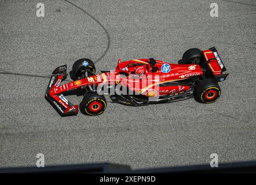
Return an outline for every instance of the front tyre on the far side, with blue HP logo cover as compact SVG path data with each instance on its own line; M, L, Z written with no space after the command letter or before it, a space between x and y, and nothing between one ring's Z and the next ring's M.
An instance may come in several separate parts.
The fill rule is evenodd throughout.
M70 71L71 79L74 81L82 79L84 77L85 70L93 73L96 72L96 68L92 60L88 58L81 58L76 61L72 66L72 71ZM91 74L88 73L88 76L91 76Z

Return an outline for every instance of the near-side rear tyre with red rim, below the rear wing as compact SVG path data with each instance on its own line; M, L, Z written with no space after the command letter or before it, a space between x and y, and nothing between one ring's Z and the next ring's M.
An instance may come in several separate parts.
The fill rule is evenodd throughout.
M200 103L213 103L221 96L221 88L215 79L203 79L195 88L196 99Z

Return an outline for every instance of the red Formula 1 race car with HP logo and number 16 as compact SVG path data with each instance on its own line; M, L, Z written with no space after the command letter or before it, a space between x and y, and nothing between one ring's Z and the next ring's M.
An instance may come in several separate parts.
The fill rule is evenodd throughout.
M83 114L96 116L104 112L109 95L116 103L131 106L166 103L195 97L202 103L213 103L221 95L218 82L228 76L215 47L209 50L187 50L178 64L149 59L118 61L115 71L96 75L93 62L78 60L70 72L73 82L61 84L67 77L67 66L52 73L45 98L61 116L78 113L67 95L83 95L79 109Z

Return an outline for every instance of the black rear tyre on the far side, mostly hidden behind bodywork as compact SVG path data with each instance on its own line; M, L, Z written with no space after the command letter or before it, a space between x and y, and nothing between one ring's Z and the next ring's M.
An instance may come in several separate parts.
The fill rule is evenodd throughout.
M182 59L178 61L178 64L200 64L201 57L202 51L198 48L192 48L185 51Z

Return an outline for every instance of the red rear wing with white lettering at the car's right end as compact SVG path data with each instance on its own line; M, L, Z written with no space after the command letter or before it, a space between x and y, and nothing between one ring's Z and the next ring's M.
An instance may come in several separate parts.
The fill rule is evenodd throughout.
M213 72L214 78L219 82L224 81L229 74L223 74L226 71L226 67L215 47L211 47L209 50L203 50L203 56L211 72Z

